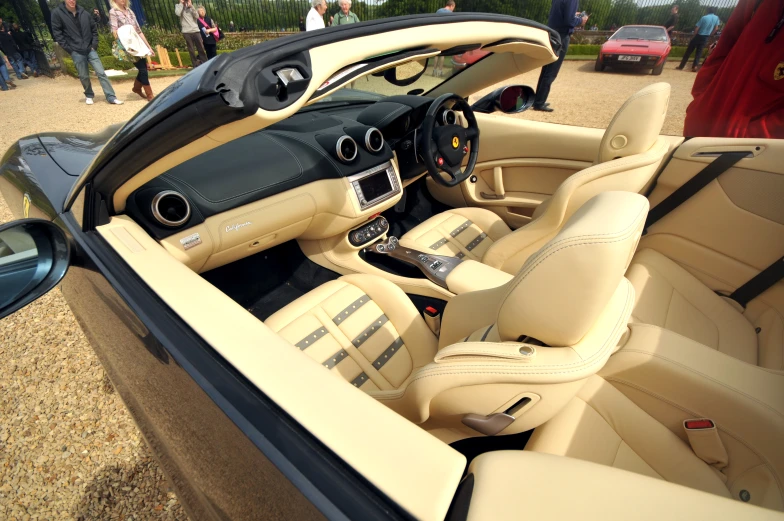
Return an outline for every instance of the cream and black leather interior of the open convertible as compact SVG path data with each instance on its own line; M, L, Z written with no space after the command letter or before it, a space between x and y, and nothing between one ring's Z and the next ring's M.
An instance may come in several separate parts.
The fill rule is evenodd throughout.
M510 117L530 89L474 93L548 33L459 25L311 49L298 102L139 172L99 233L414 517L776 516L784 283L733 292L784 255L784 143L660 135L666 83L606 129Z

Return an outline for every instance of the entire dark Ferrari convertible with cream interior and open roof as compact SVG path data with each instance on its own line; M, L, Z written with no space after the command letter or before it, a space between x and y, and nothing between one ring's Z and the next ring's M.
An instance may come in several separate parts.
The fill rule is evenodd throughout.
M559 51L387 18L20 139L0 318L60 284L193 521L774 519L784 143L660 135L666 83L604 132L470 99Z

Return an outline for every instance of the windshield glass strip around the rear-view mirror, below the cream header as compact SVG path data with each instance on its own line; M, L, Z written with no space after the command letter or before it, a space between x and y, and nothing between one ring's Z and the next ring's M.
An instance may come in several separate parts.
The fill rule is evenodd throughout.
M488 54L490 53L486 51L475 50L455 56L439 55L426 60L411 60L386 71L360 76L332 91L317 103L375 101L382 97L398 94L424 94L455 74L468 69ZM339 81L341 77L351 74L352 69L360 68L361 65L352 65L336 72L322 87L328 85L330 81Z

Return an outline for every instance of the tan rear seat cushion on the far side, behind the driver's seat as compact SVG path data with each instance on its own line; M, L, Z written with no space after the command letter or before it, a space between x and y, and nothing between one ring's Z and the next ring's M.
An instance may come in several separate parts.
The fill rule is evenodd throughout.
M626 272L634 286L632 320L659 326L757 364L754 326L691 273L655 250L642 250Z

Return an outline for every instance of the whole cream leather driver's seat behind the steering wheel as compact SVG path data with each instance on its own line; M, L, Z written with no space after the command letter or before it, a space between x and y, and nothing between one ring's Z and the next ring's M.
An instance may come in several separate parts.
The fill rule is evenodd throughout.
M604 132L596 162L566 179L525 226L512 231L490 210L453 208L408 231L400 244L516 274L593 196L610 190L640 192L648 186L669 150L659 137L669 99L670 85L654 83L626 100Z

